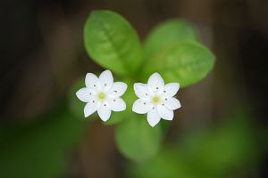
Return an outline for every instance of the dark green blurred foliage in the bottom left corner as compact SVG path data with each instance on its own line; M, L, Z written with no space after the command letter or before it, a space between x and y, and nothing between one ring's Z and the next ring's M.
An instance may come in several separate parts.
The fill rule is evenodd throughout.
M0 177L59 177L83 125L66 104L34 123L0 127Z

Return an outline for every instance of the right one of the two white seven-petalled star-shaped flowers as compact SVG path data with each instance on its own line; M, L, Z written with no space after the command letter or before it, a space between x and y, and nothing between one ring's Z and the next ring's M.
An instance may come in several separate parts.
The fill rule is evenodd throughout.
M173 110L181 107L180 101L174 98L179 88L179 83L164 85L163 78L154 73L147 84L134 84L138 100L133 103L132 110L138 114L147 113L147 121L151 126L155 126L161 118L172 120Z

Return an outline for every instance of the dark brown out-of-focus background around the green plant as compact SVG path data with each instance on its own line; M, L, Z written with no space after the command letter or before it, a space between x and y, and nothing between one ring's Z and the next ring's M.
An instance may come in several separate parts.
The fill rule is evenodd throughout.
M141 40L163 20L188 20L216 62L208 77L180 91L183 107L165 142L197 125L214 128L236 109L247 108L258 157L237 177L268 177L267 0L2 0L1 126L36 122L66 100L79 78L103 70L89 59L83 42L85 21L97 9L119 12ZM129 177L113 126L99 120L87 125L80 142L66 151L67 169L60 177Z

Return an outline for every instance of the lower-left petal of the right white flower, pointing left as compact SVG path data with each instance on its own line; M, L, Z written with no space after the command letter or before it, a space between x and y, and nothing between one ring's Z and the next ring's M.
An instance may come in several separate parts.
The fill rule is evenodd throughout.
M151 109L153 109L153 104L150 103L149 100L145 99L138 99L137 101L134 101L132 106L132 111L138 114L145 114Z

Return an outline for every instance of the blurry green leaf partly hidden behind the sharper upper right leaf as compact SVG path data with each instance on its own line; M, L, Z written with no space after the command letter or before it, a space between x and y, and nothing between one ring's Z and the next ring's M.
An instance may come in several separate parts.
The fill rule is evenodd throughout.
M183 20L167 20L156 26L147 36L144 43L145 59L166 46L183 40L197 40L194 28Z

